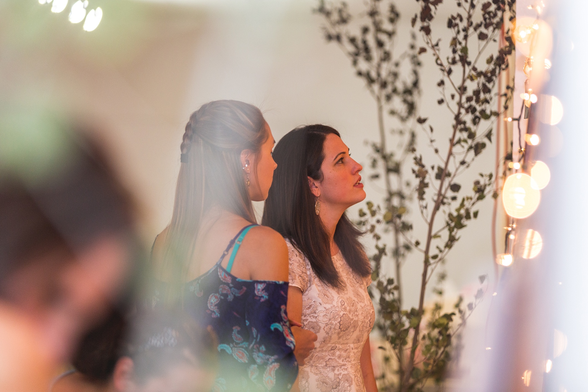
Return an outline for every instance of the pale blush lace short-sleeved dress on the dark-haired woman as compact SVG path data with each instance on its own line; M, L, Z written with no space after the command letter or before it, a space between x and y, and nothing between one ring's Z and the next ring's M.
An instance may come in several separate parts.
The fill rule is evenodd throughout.
M318 335L315 349L299 369L301 392L364 392L359 363L376 318L368 294L371 277L354 273L341 252L333 264L345 285L336 290L313 272L288 240L290 286L302 290L302 326Z

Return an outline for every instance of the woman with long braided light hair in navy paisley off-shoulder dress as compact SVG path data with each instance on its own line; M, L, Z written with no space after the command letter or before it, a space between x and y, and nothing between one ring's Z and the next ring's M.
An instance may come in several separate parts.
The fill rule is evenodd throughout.
M153 248L160 300L181 303L219 339L215 391L290 390L298 374L288 321L288 247L256 225L276 163L255 106L206 103L183 135L170 225ZM156 300L157 301L157 300Z

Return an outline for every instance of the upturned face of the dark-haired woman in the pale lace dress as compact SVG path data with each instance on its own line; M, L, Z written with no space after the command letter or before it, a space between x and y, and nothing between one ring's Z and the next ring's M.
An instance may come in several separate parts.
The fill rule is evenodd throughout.
M323 180L319 183L320 201L347 209L366 198L362 176L362 165L349 155L348 146L334 133L329 133L323 144L323 160L320 170Z

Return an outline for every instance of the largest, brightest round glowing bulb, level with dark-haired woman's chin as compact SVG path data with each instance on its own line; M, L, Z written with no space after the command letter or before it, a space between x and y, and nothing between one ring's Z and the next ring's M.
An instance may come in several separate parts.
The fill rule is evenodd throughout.
M541 194L533 185L536 186L534 180L524 173L515 173L506 178L502 189L502 203L509 216L523 219L539 207Z

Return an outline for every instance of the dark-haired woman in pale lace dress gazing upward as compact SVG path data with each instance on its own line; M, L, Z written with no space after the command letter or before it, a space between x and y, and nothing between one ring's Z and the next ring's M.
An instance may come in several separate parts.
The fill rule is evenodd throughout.
M301 391L377 391L369 333L375 311L367 287L370 265L360 231L345 210L365 199L362 166L339 132L309 125L276 145L263 224L289 249L289 315L318 335L300 367Z

